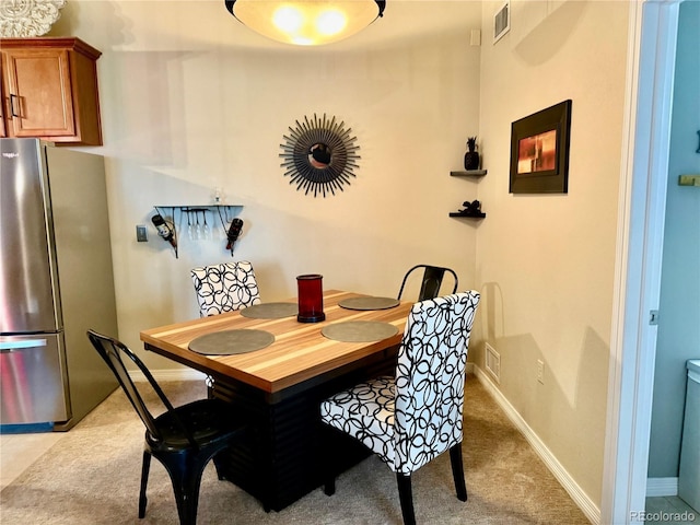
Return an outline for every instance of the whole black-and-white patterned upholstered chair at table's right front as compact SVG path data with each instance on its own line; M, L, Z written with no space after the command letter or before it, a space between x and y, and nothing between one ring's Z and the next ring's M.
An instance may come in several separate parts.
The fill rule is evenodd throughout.
M447 450L457 498L467 501L462 465L464 386L479 299L472 290L413 304L396 377L355 385L320 405L324 423L361 441L396 472L406 525L416 523L411 474ZM325 492L335 492L332 474Z

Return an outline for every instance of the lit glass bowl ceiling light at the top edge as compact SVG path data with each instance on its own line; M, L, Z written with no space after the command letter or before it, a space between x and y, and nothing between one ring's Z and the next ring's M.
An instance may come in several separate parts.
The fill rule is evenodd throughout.
M384 0L224 0L240 22L273 40L320 46L359 33L384 13Z

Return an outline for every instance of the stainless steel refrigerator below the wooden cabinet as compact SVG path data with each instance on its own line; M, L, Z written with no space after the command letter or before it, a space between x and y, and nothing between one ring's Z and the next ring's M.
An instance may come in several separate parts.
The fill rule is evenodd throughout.
M0 144L0 431L68 430L117 386L85 335L117 335L104 159Z

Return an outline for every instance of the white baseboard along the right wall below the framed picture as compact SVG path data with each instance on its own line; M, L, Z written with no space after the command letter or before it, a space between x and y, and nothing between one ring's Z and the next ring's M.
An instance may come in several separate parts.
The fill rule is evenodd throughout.
M474 363L467 363L467 372L471 372L477 376L479 382L486 387L489 394L491 394L491 397L493 397L495 402L505 412L511 422L517 428L517 430L521 431L535 453L542 462L545 462L547 468L549 468L555 478L557 478L557 481L561 483L561 486L569 493L574 503L579 505L579 509L581 509L581 511L591 521L591 523L593 523L594 525L599 525L600 509L598 509L596 504L591 500L591 498L588 498L588 495L583 491L583 489L579 487L571 475L559 463L557 457L551 453L551 451L549 451L549 448L547 448L547 445L545 445L539 436L521 417L517 410L515 410L515 408L509 402L503 394L501 394L501 390L495 387L490 376Z

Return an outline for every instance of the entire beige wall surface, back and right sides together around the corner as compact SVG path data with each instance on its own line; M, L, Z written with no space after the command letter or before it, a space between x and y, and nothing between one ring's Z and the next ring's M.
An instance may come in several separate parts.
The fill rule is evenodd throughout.
M104 52L119 337L140 349L140 330L197 315L189 269L229 260L223 243L183 238L176 259L150 217L153 205L208 202L215 186L244 205L236 258L254 262L266 301L294 294L301 272L393 295L409 266L451 266L483 294L470 359L482 366L482 334L501 353L503 395L599 505L627 2L514 2L513 30L493 46L500 1L393 1L319 49L264 40L222 3L73 0L51 33ZM510 195L511 122L565 98L569 195ZM357 179L326 199L289 186L278 159L288 127L315 112L361 147ZM472 135L488 175L450 177ZM477 197L486 220L447 217ZM136 243L136 224L149 224L149 243Z

